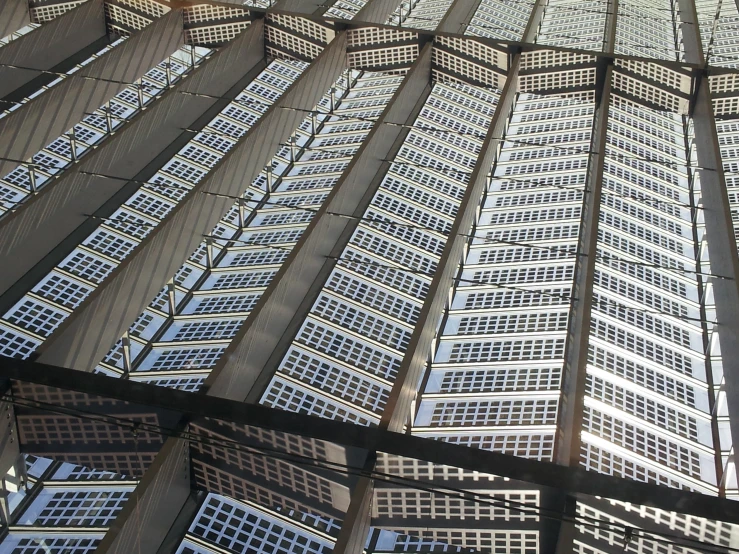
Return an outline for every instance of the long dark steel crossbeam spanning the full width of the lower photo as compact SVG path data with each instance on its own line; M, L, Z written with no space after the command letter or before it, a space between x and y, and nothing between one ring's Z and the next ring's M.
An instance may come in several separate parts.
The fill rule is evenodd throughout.
M377 427L363 427L258 404L192 394L14 358L0 358L0 378L56 387L62 391L99 395L105 399L147 406L156 412L178 413L188 418L211 418L236 426L259 427L327 441L345 448L385 452L438 465L493 473L500 477L573 494L601 496L670 512L739 523L739 502L613 477L587 471L581 467L565 467L509 454L466 448ZM60 400L63 400L63 396L60 396ZM177 435L180 428L170 426L164 431Z

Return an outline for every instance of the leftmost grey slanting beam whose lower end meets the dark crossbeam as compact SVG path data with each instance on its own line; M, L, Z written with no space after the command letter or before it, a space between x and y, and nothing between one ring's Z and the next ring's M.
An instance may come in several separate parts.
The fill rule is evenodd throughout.
M42 346L39 360L92 371L229 210L233 204L229 197L246 190L305 112L339 78L345 60L346 33L340 33L159 228L57 329Z

